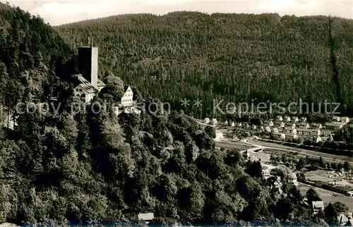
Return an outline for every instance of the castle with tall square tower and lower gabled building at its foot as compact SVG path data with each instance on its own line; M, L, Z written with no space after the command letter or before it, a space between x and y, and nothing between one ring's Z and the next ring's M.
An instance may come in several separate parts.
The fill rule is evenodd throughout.
M78 72L73 75L73 94L89 103L105 87L98 79L98 47L78 47Z

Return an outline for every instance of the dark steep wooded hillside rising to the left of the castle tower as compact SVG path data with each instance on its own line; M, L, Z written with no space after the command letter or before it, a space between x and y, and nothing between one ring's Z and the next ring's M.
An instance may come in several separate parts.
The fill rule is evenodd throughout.
M42 18L0 3L0 103L14 107L17 100L42 99L44 84L56 56L71 51L58 32ZM2 119L1 119L2 120Z

